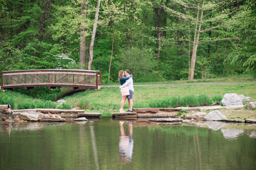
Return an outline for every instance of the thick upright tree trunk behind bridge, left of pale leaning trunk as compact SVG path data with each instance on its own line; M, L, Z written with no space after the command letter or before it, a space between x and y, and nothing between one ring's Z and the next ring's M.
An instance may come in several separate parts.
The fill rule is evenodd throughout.
M87 3L85 3L85 1L82 1L81 3L81 17L85 17L86 16L86 6ZM80 28L80 57L79 57L79 69L80 70L84 70L84 64L85 64L85 49L86 49L86 40L85 40L85 36L84 36L84 24L85 24L85 20L82 19L81 24L81 28Z

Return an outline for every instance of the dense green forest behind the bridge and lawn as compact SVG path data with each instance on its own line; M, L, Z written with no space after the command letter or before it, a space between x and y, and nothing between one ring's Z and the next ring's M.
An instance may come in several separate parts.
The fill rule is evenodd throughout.
M0 71L100 70L103 83L125 69L136 82L255 76L256 0L0 0L0 42Z

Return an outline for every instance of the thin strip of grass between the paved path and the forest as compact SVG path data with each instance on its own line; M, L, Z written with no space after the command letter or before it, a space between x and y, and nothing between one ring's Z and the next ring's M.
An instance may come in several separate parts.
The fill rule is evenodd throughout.
M136 81L136 78L133 77L133 80ZM212 82L248 82L248 81L256 81L250 75L232 75L228 77L218 77L212 79L194 79L194 80L174 80L174 81L160 81L160 82L133 82L134 85L144 85L144 84L184 84L184 83L212 83ZM110 83L102 83L102 85L120 85L120 83L110 82Z

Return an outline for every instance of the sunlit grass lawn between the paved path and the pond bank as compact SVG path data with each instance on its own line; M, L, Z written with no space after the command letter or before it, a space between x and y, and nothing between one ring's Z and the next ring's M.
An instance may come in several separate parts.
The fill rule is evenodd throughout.
M151 99L164 99L170 96L185 96L189 94L207 94L214 96L225 93L243 94L252 99L256 99L256 84L212 84L212 85L185 85L185 86L143 86L134 87L133 103L147 102ZM66 96L63 99L72 103L73 98L85 97L92 104L116 105L119 106L121 102L121 92L117 87L105 87L100 90L88 90L76 93L71 96ZM128 104L128 101L125 101Z

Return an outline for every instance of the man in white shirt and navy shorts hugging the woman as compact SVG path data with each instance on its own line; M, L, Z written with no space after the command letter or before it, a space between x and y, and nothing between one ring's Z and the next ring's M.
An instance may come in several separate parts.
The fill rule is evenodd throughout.
M130 75L130 70L125 70L124 71L124 75L127 77ZM129 110L126 111L126 112L132 112L132 95L133 95L133 92L134 92L134 89L133 89L133 80L132 78L126 80L126 82L120 86L119 88L124 88L125 86L128 86L128 89L129 89L129 93L130 95L127 96L127 99L128 99L128 104L129 104Z

